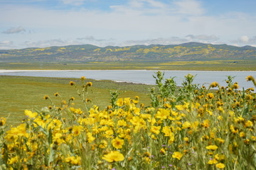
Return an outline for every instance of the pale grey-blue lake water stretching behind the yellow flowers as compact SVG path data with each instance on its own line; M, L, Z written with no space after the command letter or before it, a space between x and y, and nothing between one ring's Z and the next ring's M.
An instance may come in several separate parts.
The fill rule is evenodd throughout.
M152 70L0 70L0 75L9 76L28 76L28 77L65 77L80 78L85 76L87 79L109 79L113 81L125 81L137 84L155 84L152 77L157 71ZM240 89L254 87L251 81L247 82L245 77L251 75L256 78L256 72L218 72L218 71L163 71L164 77L176 77L174 80L181 86L184 76L187 74L196 75L195 84L208 84L217 81L220 86L226 86L225 79L228 76L235 77L234 82L238 81Z

